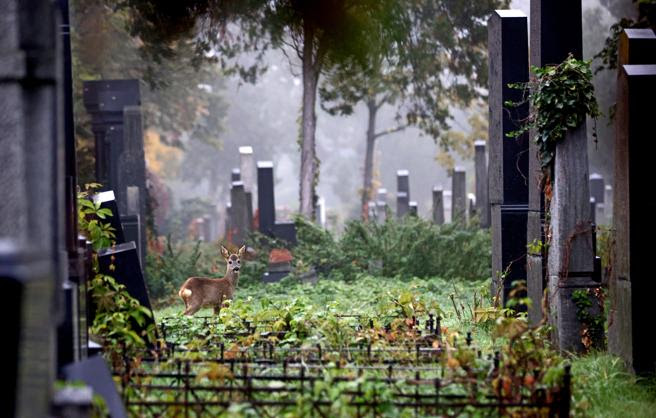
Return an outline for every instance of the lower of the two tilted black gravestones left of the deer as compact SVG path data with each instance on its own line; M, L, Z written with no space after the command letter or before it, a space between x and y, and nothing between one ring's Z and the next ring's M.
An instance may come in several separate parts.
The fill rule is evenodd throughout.
M110 248L98 251L98 269L101 274L113 277L117 283L125 286L127 292L139 303L148 309L152 315L150 298L146 288L146 282L139 265L139 254L134 241L118 244ZM93 305L93 304L92 304ZM91 307L90 318L95 316L95 306ZM154 324L155 317L147 319L146 325ZM134 324L137 330L144 327ZM149 343L154 343L150 341Z

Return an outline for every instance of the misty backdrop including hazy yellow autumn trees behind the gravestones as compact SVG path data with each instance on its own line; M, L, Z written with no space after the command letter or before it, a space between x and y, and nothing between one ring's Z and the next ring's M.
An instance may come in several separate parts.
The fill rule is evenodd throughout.
M529 15L529 3L530 0L514 0L512 8ZM85 8L86 4L78 6L78 12ZM620 17L631 16L634 9L631 1L584 1L584 58L591 59L603 47L609 27ZM86 12L93 13L94 10ZM86 17L77 18L81 24L86 22ZM77 48L83 52L84 45L78 44ZM98 49L94 52L97 53ZM138 65L138 60L135 55L130 65ZM238 77L224 77L216 67L204 65L198 81L190 82L191 93L185 92L186 95L202 95L204 99L202 103L187 100L191 104L178 112L181 127L173 138L168 121L158 117L162 112L152 109L173 107L169 113L176 112L176 101L183 100L184 96L175 90L175 72L180 71L180 77L184 77L183 72L189 71L188 65L185 62L170 65L172 80L169 87L145 89L142 101L146 110L146 164L153 173L151 181L162 191L155 196L158 206L160 210L166 209L156 223L162 223L161 218L179 211L192 200L217 205L220 211L224 210L229 201L231 171L239 167L238 148L245 145L253 147L256 161L274 163L278 217L284 219L298 210L300 153L297 141L302 94L299 62L291 54L276 49L267 52L266 62L267 71L254 84L244 83ZM125 64L122 67L116 65L112 70L103 67L100 75L129 78L130 68L125 67ZM615 83L611 81L615 76L614 71L602 71L595 76L597 98L604 117L596 126L598 143L595 144L592 135L589 136L590 172L604 175L606 184L612 184L614 128L608 125L607 115L614 102ZM473 135L470 126L472 112L478 112L481 120L487 119L485 103L478 109L452 110L454 120L451 127L458 135ZM189 112L188 116L185 111ZM383 107L378 129L393 128L396 125L394 115L393 108ZM189 122L188 126L185 121ZM593 123L588 126L591 131L594 129ZM318 195L325 200L328 226L336 230L346 220L360 216L366 129L367 112L363 105L348 117L331 116L317 106ZM479 130L472 139L487 140L486 131L486 128ZM467 191L474 192L473 149L469 153L465 150L464 153L451 152L449 155L445 155L432 138L422 136L415 128L386 135L376 144L375 187L388 190L388 203L394 207L396 171L409 170L411 200L418 202L419 216L428 218L432 188L451 189L450 167L445 161L452 159L452 163L467 171ZM184 231L178 232L184 234Z

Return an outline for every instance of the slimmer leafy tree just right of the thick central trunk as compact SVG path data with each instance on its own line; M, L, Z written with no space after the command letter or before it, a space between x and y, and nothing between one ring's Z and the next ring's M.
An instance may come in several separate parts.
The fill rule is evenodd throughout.
M372 174L378 139L416 126L449 149L451 108L482 98L487 84L487 16L507 0L398 0L389 42L371 49L364 68L336 65L320 87L323 108L350 115L358 104L368 112L362 186L362 215L373 197ZM390 32L388 31L388 34ZM380 129L383 106L396 124Z

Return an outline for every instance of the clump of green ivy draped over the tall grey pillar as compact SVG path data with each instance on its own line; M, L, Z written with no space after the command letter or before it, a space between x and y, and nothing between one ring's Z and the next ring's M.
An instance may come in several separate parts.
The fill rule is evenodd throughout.
M600 112L592 84L590 61L577 60L570 54L556 66L532 67L532 71L534 81L510 85L528 93L532 114L519 130L509 136L516 137L535 129L534 141L539 146L542 167L546 168L551 165L556 144L565 137L565 133L581 126L586 116L596 119ZM505 103L508 107L524 104Z

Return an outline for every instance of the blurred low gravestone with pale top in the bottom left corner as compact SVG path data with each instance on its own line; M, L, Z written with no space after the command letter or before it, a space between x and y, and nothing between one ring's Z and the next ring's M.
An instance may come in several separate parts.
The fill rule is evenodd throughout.
M4 231L3 231L4 232ZM2 416L47 416L55 378L52 262L46 252L31 253L15 240L0 239L0 291L6 300Z

